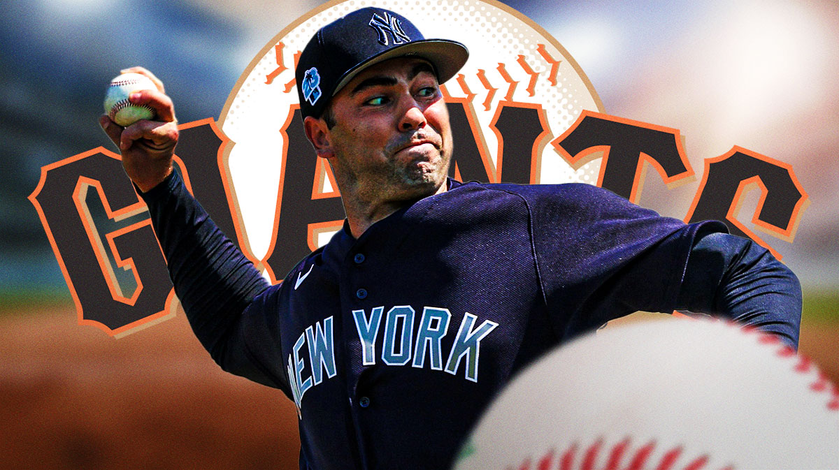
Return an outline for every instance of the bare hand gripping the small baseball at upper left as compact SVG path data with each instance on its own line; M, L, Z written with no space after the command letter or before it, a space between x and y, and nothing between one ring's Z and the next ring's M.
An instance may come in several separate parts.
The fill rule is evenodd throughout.
M122 168L128 178L144 192L154 188L172 173L172 155L178 143L178 121L175 106L166 96L163 82L143 67L132 67L121 73L142 74L154 82L157 90L141 90L128 100L135 105L149 105L159 121L137 121L122 128L107 115L99 116L99 125L122 153Z

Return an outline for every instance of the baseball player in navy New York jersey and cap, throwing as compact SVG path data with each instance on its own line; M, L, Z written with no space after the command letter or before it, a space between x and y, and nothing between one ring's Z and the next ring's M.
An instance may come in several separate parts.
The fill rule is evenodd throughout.
M173 171L159 80L132 97L159 121L101 118L195 335L223 369L294 400L300 468L449 467L513 374L638 310L708 312L797 345L797 279L720 222L685 225L587 184L446 178L440 83L467 55L381 8L315 34L296 70L300 111L347 219L276 286Z

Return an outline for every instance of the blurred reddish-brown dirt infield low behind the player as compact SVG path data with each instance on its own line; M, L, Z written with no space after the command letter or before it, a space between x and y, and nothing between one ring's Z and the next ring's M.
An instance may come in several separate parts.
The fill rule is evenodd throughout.
M0 317L0 467L297 468L294 405L226 374L180 314L112 339L71 310ZM839 382L839 328L801 352Z

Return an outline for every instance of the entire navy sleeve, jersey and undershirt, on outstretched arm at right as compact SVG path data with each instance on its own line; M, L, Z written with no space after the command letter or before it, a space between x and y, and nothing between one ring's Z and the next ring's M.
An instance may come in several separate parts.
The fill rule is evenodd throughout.
M800 285L719 221L685 224L588 184L529 198L539 276L561 337L637 311L729 318L797 344Z

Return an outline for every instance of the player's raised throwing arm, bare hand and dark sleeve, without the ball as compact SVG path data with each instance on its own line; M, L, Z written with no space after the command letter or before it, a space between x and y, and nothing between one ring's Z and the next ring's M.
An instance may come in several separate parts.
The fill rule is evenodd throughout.
M175 172L173 157L180 132L175 105L163 82L143 67L122 70L126 72L145 75L154 83L156 90L139 90L128 100L150 106L155 120L123 128L104 114L99 116L99 125L119 147L122 168L149 205L169 277L195 336L222 369L288 390L284 374L272 374L261 365L274 361L257 359L248 349L248 343L273 344L271 335L279 331L265 328L272 318L253 307L259 303L253 299L268 288L268 281L218 230Z

